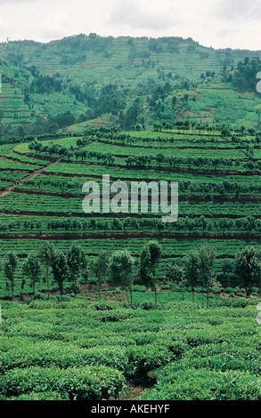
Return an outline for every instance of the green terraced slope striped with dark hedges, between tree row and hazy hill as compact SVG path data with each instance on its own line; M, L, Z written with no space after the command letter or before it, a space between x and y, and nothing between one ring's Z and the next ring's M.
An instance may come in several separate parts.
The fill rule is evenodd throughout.
M216 249L216 277L224 284L232 278L226 261L245 246L260 244L256 136L92 128L77 136L6 144L1 155L0 255L14 250L19 256L17 296L22 261L48 240L63 251L77 242L94 260L116 249L138 257L143 244L156 238L163 249L161 280L169 262L208 244ZM93 180L102 186L103 174L128 186L130 181L178 181L178 220L163 223L163 213L153 213L151 205L148 213L85 213L83 185ZM10 290L0 274L0 294L6 297ZM37 289L45 290L43 281ZM23 292L30 292L29 285Z

